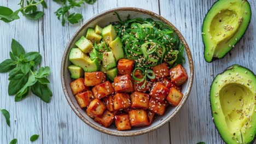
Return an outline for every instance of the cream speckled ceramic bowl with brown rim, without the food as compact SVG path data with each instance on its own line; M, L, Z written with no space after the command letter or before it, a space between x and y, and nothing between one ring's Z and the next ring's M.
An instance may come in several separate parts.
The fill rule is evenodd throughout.
M88 117L86 115L85 110L80 109L79 105L77 104L77 101L75 100L74 95L72 94L71 88L69 87L69 83L71 82L71 77L67 67L68 65L71 64L71 62L68 61L68 55L69 55L70 49L72 47L75 47L75 42L80 37L82 37L82 35L86 34L86 31L89 27L95 27L96 24L100 25L101 27L104 27L104 26L107 26L110 22L118 21L117 15L115 15L114 13L115 11L120 15L122 20L125 20L127 16L130 15L131 19L135 17L142 17L142 18L150 17L154 20L158 20L166 23L167 25L171 26L174 29L174 31L177 33L179 39L181 39L185 47L185 52L184 52L185 64L183 65L183 67L187 70L188 81L184 83L184 85L182 86L182 93L184 94L184 97L182 98L181 103L178 106L176 107L169 106L166 109L164 116L159 116L155 118L154 122L148 127L132 128L131 130L126 130L126 131L118 131L115 129L114 125L112 125L109 128L102 127L100 124L94 122L94 119L91 119L90 117ZM162 125L170 121L179 112L179 110L181 110L182 106L187 101L190 90L193 85L193 77L194 77L193 59L189 50L189 46L185 41L184 37L182 36L182 34L178 31L176 27L172 25L171 22L164 19L164 17L161 17L160 15L155 14L152 11L139 9L139 8L125 7L125 8L110 9L86 21L81 27L79 27L79 29L74 33L72 38L69 40L67 47L65 49L65 52L63 53L62 63L61 63L62 88L65 94L65 97L68 101L68 104L71 106L72 110L75 112L75 114L77 114L77 116L80 119L82 119L82 121L90 125L90 127L98 131L101 131L102 133L115 135L115 136L135 136L135 135L146 134L146 133L149 133L150 131L153 131L162 127ZM181 123L177 123L177 124L181 124Z

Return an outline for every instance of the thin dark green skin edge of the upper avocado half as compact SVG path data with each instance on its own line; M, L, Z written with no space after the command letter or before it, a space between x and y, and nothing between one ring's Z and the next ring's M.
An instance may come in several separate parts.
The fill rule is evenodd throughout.
M219 1L220 1L220 0L214 2L214 3L212 4L212 6L213 6L214 4L216 4L216 3L218 3ZM243 0L243 1L247 1L247 0ZM248 2L248 1L247 1L247 2ZM249 7L251 8L251 4L250 4L249 2L248 2L248 4L249 4ZM208 11L210 11L211 9L212 9L212 7L211 7ZM208 14L208 11L207 11L206 15ZM252 11L252 10L251 10L251 11ZM205 18L203 19L203 25L205 25L206 15L205 15ZM252 13L251 13L250 17L252 17ZM245 28L245 32L243 32L243 33L241 34L240 39L237 39L237 41L236 41L236 43L235 43L234 45L236 45L236 44L242 39L243 35L245 35L245 33L246 33L246 31L247 31L247 29L248 29L248 27L249 27L249 23L251 23L251 19L249 20L248 25L247 25L246 28ZM201 31L203 30L203 25L202 25ZM203 36L203 34L202 34L202 36ZM203 47L204 47L203 53L205 53L205 51L206 51L206 46L205 46L205 42L204 42L204 41L203 41ZM232 49L231 49L231 50L232 50ZM231 51L231 50L230 50L230 51ZM226 52L223 57L219 57L219 58L218 58L218 57L213 57L213 58L212 58L212 61L206 61L205 55L203 55L203 57L205 58L205 61L206 61L207 63L211 63L211 62L216 61L216 60L218 60L218 59L224 58L230 51Z

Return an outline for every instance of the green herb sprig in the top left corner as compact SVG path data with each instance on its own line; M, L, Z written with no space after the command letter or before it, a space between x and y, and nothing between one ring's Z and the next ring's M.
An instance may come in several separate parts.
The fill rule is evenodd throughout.
M38 11L37 6L38 4L42 4L44 8L47 8L47 5L44 0L40 1L24 1L20 0L20 9L13 11L8 7L0 6L0 20L4 22L11 22L14 20L20 19L18 16L19 13L22 13L24 16L28 17L32 20L38 20L41 17L43 17L44 13L43 11Z

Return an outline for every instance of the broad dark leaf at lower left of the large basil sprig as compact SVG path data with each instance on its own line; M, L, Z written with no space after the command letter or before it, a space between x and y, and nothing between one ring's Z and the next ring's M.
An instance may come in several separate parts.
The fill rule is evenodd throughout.
M8 94L14 95L20 91L24 85L26 85L28 81L28 75L24 74L17 74L13 77L13 79L10 80L9 86L8 86Z

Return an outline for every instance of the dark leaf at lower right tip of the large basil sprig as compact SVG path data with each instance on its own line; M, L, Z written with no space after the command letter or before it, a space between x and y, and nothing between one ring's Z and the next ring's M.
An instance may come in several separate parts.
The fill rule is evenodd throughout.
M51 96L53 96L53 93L51 93L49 87L47 85L43 85L40 82L36 82L31 87L31 91L34 95L37 95L37 97L42 99L45 103L49 103Z

